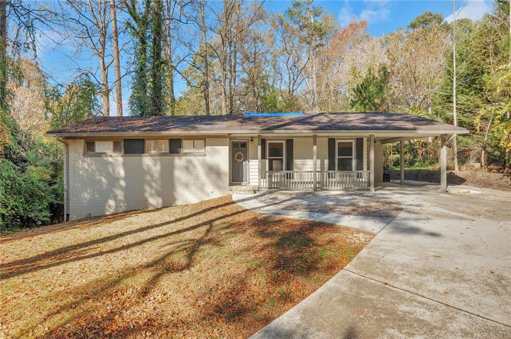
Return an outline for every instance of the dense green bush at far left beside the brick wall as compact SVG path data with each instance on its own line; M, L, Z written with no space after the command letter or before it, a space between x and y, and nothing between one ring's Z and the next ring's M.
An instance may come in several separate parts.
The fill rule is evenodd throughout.
M48 168L29 164L16 166L0 159L0 230L11 232L51 221L59 204L61 187L52 183Z

